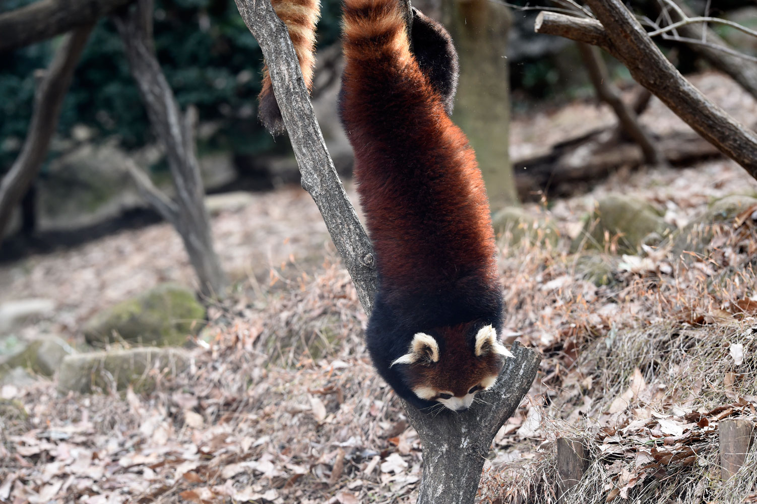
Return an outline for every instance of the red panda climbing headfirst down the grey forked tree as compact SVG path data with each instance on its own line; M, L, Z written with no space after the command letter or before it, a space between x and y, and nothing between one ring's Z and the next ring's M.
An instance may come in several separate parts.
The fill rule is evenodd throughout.
M419 408L467 409L511 354L481 171L449 114L456 53L402 0L345 0L340 116L378 268L366 330L379 374Z

